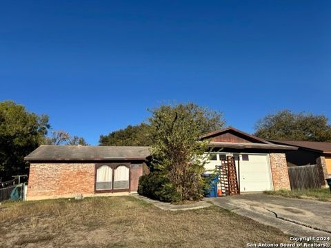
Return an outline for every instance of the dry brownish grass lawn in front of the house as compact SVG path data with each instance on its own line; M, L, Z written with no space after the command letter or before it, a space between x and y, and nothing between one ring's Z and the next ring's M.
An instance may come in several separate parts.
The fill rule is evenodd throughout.
M163 211L136 198L0 205L0 247L245 247L288 236L219 207Z

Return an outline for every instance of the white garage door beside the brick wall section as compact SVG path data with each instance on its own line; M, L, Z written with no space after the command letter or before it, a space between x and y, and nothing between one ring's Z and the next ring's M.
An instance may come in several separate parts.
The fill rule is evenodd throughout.
M238 157L235 157L237 164ZM268 154L241 154L239 166L241 192L272 190Z

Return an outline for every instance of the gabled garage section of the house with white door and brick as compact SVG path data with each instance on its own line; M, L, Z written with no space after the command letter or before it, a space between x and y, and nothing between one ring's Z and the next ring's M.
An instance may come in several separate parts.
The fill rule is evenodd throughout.
M297 147L277 145L234 127L210 132L200 139L210 141L207 170L214 169L226 156L234 156L240 192L290 189L285 152Z

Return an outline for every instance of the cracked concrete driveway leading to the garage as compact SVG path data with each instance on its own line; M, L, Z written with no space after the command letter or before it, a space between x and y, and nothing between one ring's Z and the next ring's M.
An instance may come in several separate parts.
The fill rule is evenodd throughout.
M294 236L331 236L331 203L241 194L205 200Z

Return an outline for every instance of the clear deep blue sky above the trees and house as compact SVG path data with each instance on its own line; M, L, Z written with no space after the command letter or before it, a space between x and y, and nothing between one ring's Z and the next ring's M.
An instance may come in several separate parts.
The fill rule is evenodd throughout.
M2 1L0 101L83 136L193 101L245 132L331 117L331 1Z

